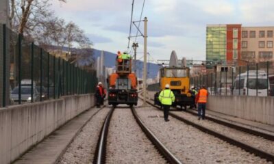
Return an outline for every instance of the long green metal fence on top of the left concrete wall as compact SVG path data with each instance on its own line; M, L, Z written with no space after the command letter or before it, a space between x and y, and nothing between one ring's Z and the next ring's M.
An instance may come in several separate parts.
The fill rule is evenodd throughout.
M0 24L0 107L95 92L96 72L54 57Z

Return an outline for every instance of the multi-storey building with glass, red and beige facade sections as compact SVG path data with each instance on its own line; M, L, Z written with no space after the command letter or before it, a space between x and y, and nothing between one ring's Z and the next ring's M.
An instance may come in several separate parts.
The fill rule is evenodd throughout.
M249 63L273 60L274 27L208 25L206 60Z

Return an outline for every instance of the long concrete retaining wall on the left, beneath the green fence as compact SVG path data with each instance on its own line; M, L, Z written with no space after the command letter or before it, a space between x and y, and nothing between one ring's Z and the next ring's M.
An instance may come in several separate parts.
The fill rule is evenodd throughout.
M94 95L85 94L0 109L0 163L11 163L94 104Z

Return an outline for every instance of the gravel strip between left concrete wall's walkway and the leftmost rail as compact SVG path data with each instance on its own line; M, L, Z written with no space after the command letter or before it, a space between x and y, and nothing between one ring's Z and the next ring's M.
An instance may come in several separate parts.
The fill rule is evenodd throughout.
M101 127L110 107L99 110L69 145L58 162L59 164L92 163ZM95 109L96 111L98 109Z

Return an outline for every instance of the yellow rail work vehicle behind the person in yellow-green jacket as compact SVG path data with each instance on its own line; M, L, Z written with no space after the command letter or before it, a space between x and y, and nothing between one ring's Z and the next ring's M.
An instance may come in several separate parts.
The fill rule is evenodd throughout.
M181 109L186 110L188 105L193 105L194 98L190 94L190 69L188 67L164 67L160 68L160 89L164 90L166 84L175 95L175 102L172 106L179 105ZM159 92L154 95L154 104L161 105L158 96Z

